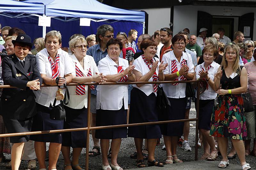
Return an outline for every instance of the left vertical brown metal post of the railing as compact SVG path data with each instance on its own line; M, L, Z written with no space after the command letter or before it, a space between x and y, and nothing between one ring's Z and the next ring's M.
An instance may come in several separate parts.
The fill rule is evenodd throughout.
M87 139L86 139L86 154L85 154L85 169L89 170L89 139L90 139L90 105L91 105L91 85L88 85L87 89Z

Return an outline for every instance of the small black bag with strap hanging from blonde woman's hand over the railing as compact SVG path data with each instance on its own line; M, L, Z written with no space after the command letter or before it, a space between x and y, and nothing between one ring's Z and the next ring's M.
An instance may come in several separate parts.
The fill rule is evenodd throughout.
M64 100L60 100L60 105L57 105L55 106L56 104L56 99L54 99L54 102L53 102L53 105L52 105L52 110L50 111L50 119L52 120L57 120L57 121L60 121L60 120L64 120L66 118L66 111L64 109L64 105L63 103L65 103L65 105L68 104L69 102L69 92L68 92L68 88L67 88L67 85L65 84L64 85L65 87L65 97L64 97ZM68 98L68 101L66 101Z

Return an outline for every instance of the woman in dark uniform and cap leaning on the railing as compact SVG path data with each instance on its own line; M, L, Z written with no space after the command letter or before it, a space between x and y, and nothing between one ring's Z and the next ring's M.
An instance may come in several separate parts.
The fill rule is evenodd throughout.
M36 57L28 55L32 48L31 38L20 34L12 40L14 54L3 59L4 85L17 88L3 90L1 115L8 133L31 131L32 117L36 115L36 102L32 90L40 90L42 78L36 66ZM23 154L24 142L29 135L10 137L12 147L12 169L18 170Z

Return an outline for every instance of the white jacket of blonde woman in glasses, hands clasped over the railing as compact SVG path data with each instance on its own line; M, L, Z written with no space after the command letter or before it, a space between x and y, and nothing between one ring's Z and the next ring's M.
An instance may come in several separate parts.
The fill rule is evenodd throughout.
M84 68L81 66L74 54L72 54L70 57L72 58L73 63L71 65L74 69L72 75L76 76L76 66L79 68L79 70L82 71L84 77L87 76L90 68L92 76L95 75L96 72L99 73L99 70L92 56L86 55L84 57ZM88 86L86 85L85 95L76 95L76 86L68 86L69 102L67 106L73 109L81 109L83 107L87 108L87 91Z

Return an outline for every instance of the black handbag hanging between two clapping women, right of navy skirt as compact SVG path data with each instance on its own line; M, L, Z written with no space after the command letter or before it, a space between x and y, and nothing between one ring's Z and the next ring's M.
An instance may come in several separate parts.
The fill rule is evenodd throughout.
M167 98L163 87L158 84L157 96L156 96L156 107L159 110L164 110L167 105L171 106L170 100Z

